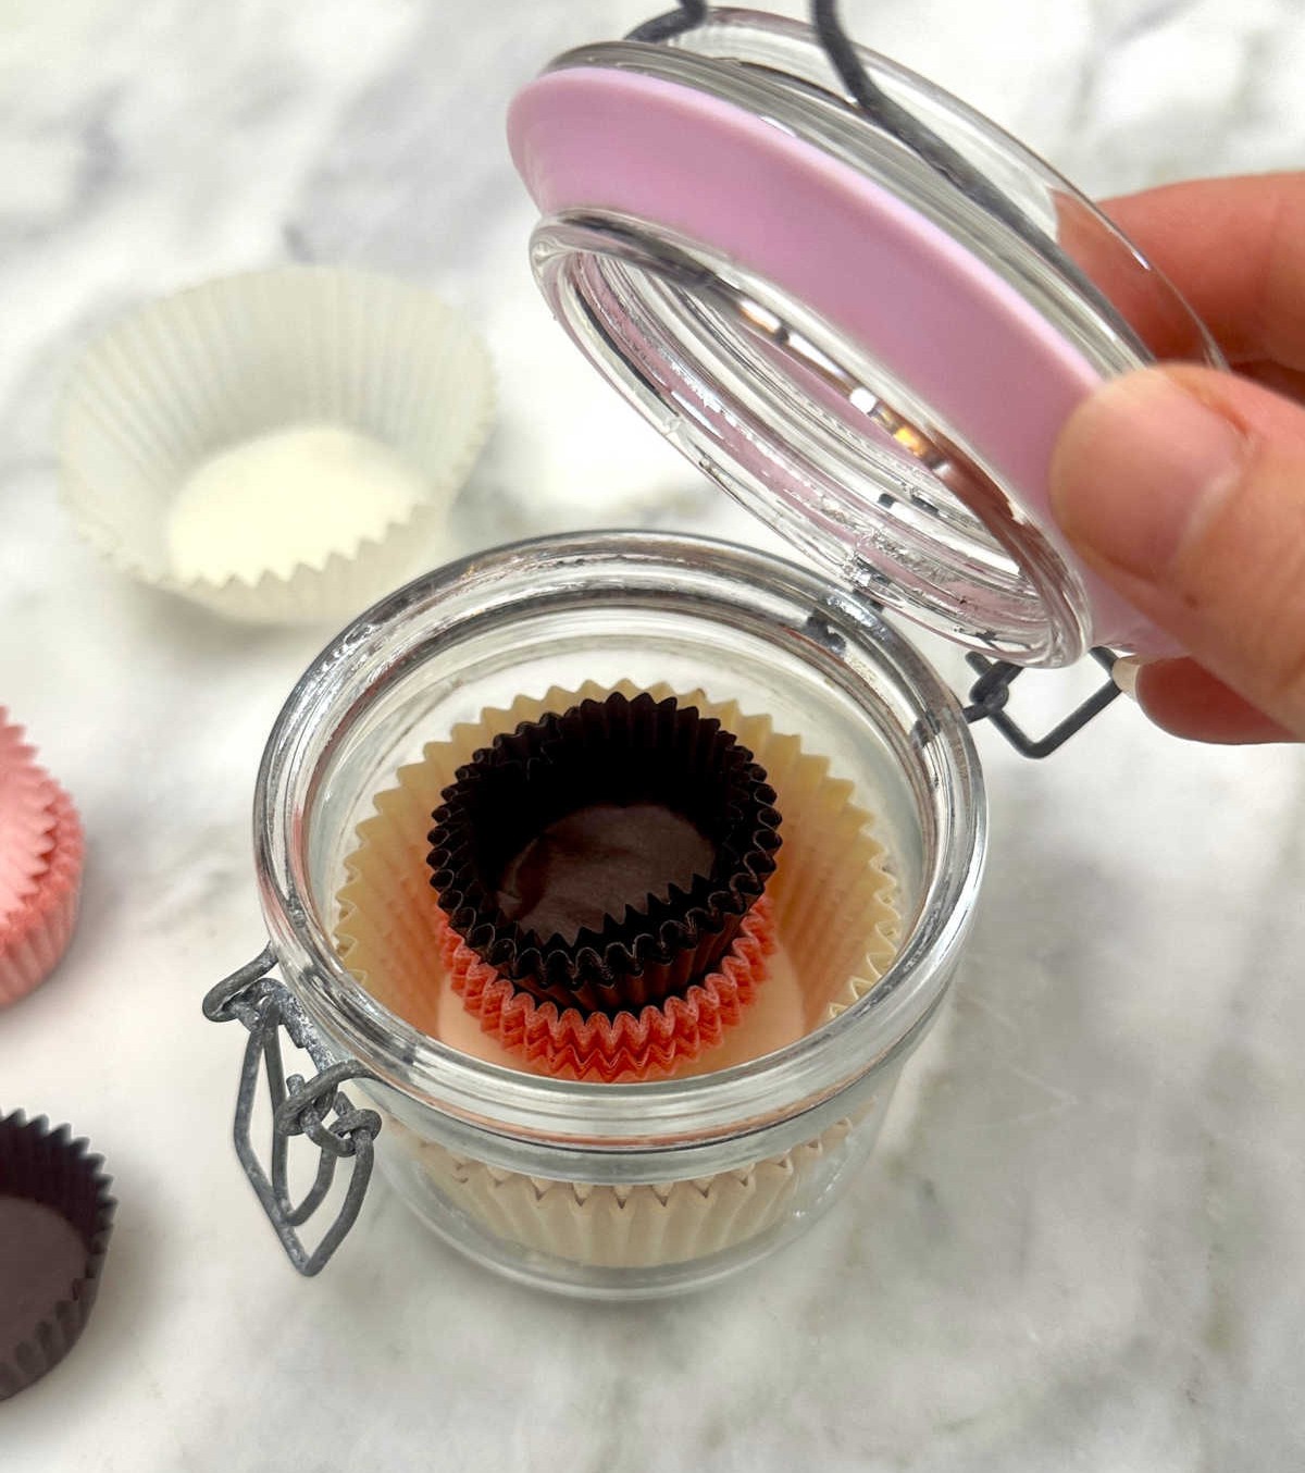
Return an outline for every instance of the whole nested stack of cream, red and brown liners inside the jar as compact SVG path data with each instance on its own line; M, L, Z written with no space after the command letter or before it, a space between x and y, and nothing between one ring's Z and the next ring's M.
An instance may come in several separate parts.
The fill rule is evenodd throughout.
M851 785L703 691L585 685L485 710L376 794L337 943L421 1033L532 1075L728 1069L815 1031L896 953L897 882ZM516 1248L657 1268L778 1224L851 1133L706 1178L539 1178L396 1119L429 1184Z

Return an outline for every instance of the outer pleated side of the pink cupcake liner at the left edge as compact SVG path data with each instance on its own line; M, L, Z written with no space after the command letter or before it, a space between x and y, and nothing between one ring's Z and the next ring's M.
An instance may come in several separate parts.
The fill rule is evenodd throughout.
M85 838L72 798L52 784L53 847L35 890L0 916L0 1008L25 997L59 963L81 899Z

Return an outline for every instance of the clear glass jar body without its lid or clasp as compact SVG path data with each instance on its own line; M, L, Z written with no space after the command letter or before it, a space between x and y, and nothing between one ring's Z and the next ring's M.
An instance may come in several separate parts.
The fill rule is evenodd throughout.
M901 910L872 991L748 1064L605 1086L471 1059L361 987L336 952L334 897L374 794L458 722L585 681L735 700L853 784ZM272 952L326 1050L376 1075L361 1089L393 1187L474 1259L608 1298L708 1283L837 1198L946 994L984 835L960 709L872 608L760 554L635 533L504 548L376 605L292 692L255 800Z

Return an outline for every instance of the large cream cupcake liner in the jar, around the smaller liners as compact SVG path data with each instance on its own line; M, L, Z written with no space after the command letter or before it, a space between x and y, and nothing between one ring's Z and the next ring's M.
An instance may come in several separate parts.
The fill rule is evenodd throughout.
M636 691L630 682L616 688ZM376 816L358 826L359 844L345 862L349 882L337 896L340 956L373 996L421 1031L439 1036L426 831L442 790L495 732L605 694L608 688L594 682L579 691L554 686L455 726L448 741L427 744L421 762L399 769L395 787L377 794ZM769 717L747 716L735 701L711 701L703 691L657 685L651 694L678 695L717 717L766 769L784 816L784 846L766 894L803 978L810 1031L870 991L897 952L897 881L885 868L872 816L851 801L850 782L831 776L826 759L804 751L800 738L776 734ZM630 1186L490 1167L389 1115L386 1131L387 1149L409 1155L430 1190L489 1236L589 1267L654 1268L738 1246L813 1202L875 1105L872 1099L815 1139L731 1171Z

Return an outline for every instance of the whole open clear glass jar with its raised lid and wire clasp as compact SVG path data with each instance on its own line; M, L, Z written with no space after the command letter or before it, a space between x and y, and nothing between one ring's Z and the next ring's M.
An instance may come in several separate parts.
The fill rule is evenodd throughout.
M957 962L985 832L966 714L1005 722L1019 666L1105 644L1168 653L1060 538L1047 470L1096 384L1156 356L1220 364L1209 334L1015 140L856 57L854 103L807 27L711 12L670 44L569 53L514 105L544 217L535 270L561 326L823 572L695 538L523 544L395 594L299 682L255 800L271 943L205 1006L250 1031L237 1149L305 1273L352 1224L373 1142L440 1236L561 1292L688 1289L795 1236L870 1150ZM969 713L884 605L972 651L987 673ZM571 1084L446 1047L351 975L334 897L374 794L457 723L588 681L736 701L851 784L901 906L896 959L865 996L735 1068ZM1044 742L1002 729L1040 756L1077 725ZM281 1025L315 1080L284 1078ZM261 1069L270 1170L249 1134ZM351 1080L370 1108L343 1094ZM300 1203L296 1133L321 1150ZM349 1190L309 1254L298 1227L346 1158Z

